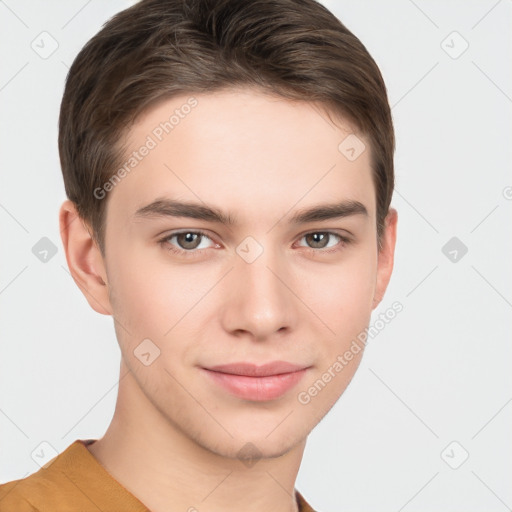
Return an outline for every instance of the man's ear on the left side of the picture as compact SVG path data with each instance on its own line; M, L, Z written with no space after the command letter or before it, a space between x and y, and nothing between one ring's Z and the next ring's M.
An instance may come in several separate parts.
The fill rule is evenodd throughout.
M59 226L69 271L89 305L102 315L112 315L107 273L92 229L78 215L75 204L66 200L59 211Z

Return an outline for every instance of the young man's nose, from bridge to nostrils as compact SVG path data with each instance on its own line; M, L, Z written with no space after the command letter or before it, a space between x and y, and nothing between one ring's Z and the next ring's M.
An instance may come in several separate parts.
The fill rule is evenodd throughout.
M292 274L284 256L268 249L252 262L237 256L224 283L224 329L259 341L294 330L301 312Z

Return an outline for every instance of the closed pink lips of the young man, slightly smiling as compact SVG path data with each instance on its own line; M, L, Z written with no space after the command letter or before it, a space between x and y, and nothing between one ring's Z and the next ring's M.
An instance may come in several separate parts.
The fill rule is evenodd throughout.
M257 366L233 363L201 368L216 385L230 394L254 402L275 400L295 387L309 366L274 361Z

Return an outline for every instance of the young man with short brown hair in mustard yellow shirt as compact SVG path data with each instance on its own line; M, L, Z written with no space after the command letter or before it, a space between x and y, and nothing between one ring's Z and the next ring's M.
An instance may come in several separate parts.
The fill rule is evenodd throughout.
M393 268L393 126L364 46L314 0L143 0L75 59L59 150L118 401L0 511L312 511L306 439Z

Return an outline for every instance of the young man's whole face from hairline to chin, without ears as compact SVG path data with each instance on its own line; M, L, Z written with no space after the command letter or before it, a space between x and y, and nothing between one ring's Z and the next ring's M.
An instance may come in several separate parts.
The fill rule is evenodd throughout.
M191 97L138 120L137 161L106 186L109 312L124 364L173 429L226 457L249 442L277 456L349 384L363 350L339 356L389 279L369 142L347 158L352 130L312 104Z

